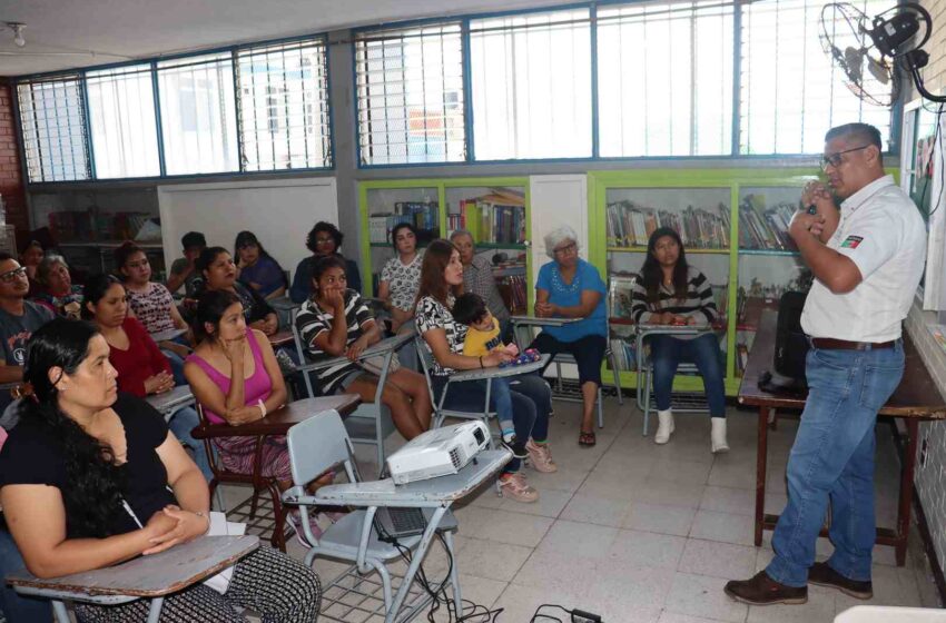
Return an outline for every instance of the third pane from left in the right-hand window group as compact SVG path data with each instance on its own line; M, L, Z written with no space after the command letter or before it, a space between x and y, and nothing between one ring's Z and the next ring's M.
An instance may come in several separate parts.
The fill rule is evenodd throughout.
M601 7L600 155L728 156L732 29L718 0Z

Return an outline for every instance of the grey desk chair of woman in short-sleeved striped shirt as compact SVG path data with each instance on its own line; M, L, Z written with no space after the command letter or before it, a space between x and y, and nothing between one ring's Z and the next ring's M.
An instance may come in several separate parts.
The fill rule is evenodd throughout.
M299 329L296 327L297 315L298 309L293 310L293 342L296 345L296 353L299 362L306 362L307 359L305 348L303 347L302 335L299 335ZM345 426L348 428L352 442L375 446L377 453L378 474L381 474L384 468L384 439L394 431L394 421L391 417L391 409L382 403L381 396L384 393L384 384L387 382L387 375L391 367L391 360L394 358L394 353L396 353L411 338L412 335L406 334L382 339L362 353L361 359L378 356L384 358L382 374L378 375L374 402L362 403L352 415L345 418ZM315 390L312 386L309 373L318 372L323 368L336 365L342 358L344 357L333 357L314 364L303 363L302 365L296 366L296 370L302 374L309 398L315 397Z

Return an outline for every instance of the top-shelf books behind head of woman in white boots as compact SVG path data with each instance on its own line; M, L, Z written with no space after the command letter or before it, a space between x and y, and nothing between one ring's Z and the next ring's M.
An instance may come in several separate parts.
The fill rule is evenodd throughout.
M670 210L624 199L608 204L607 216L610 246L646 247L658 227L677 231L687 248L725 249L729 246L729 209L722 204Z

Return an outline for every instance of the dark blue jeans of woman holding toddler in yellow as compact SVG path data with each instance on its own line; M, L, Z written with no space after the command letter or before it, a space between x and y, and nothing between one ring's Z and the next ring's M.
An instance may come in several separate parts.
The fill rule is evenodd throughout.
M549 436L549 411L552 404L552 389L538 374L523 374L509 377L510 398L512 398L512 422L515 425L515 436L525 443L530 437L544 442ZM440 400L446 378L434 377L434 400ZM483 399L486 395L485 380L464 380L451 383L443 400L443 408L450 411L469 411L482 413ZM495 411L496 394L490 392L490 409ZM522 461L513 457L504 472L519 472Z

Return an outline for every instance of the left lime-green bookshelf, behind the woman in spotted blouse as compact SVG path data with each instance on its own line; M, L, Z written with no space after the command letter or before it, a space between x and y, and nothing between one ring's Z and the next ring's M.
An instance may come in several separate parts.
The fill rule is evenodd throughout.
M377 291L384 263L394 257L387 233L405 216L418 229L418 245L466 229L477 255L493 266L500 294L513 314L531 308L531 212L528 178L438 178L372 180L358 185L362 214L363 270L372 275L369 294ZM398 211L398 205L401 210ZM418 226L423 224L423 228ZM367 285L367 284L366 284Z

